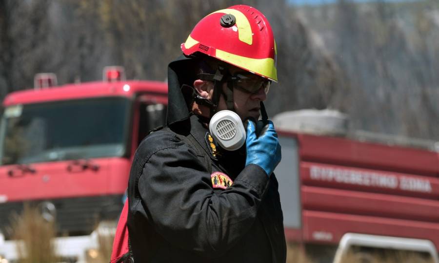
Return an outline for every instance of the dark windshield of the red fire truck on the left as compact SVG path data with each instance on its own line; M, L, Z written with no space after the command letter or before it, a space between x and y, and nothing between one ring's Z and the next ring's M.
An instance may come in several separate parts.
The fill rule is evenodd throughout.
M94 98L7 107L1 165L122 156L130 100Z

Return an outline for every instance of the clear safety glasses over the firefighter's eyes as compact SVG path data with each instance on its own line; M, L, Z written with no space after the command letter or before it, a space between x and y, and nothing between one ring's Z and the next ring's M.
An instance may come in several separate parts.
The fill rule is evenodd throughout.
M271 80L254 74L237 74L229 78L233 82L233 87L245 93L257 93L261 88L268 94Z

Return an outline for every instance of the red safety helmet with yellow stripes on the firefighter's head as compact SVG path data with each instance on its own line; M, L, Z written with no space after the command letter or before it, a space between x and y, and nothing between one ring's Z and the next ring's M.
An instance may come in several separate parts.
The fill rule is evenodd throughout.
M187 56L201 52L278 81L273 31L265 16L248 5L234 5L201 19L181 50Z

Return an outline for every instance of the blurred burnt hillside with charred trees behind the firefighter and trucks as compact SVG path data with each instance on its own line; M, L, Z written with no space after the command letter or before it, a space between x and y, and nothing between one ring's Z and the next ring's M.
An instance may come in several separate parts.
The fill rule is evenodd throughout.
M164 80L196 22L237 2L0 0L0 97L38 72L64 84L123 65L128 78ZM332 108L349 114L351 130L439 140L437 1L245 3L266 14L277 41L270 115Z

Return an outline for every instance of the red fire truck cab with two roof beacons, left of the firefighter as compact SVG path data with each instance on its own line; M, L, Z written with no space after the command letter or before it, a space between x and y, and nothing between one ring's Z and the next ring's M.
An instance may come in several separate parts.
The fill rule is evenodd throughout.
M126 81L120 67L106 68L103 76L56 86L55 75L40 74L35 89L5 97L0 259L18 257L10 216L25 202L56 220L55 246L65 262L85 262L97 249L97 231L105 230L100 222L119 217L131 158L145 134L163 124L167 84Z

